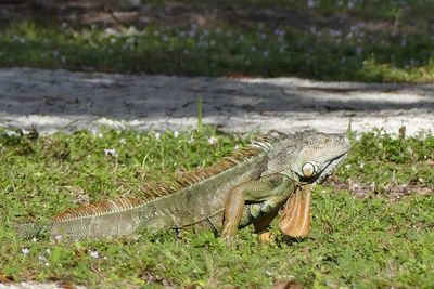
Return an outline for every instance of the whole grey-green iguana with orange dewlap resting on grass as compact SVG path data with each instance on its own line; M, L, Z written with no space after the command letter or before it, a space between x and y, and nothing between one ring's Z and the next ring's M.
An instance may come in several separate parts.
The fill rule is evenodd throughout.
M261 232L283 208L280 229L304 237L310 228L311 185L330 175L348 149L340 134L271 131L214 166L144 185L148 197L71 209L48 225L24 225L18 234L35 235L43 227L52 237L100 238L193 226L228 238L251 224Z

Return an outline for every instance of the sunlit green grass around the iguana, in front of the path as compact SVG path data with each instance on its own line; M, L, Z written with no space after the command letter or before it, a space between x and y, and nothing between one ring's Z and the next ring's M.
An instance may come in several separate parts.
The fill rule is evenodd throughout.
M330 184L318 186L312 232L305 240L281 236L276 224L275 242L259 244L246 228L229 248L206 232L188 233L181 239L162 233L74 242L14 236L16 222L47 221L88 200L140 195L143 182L208 166L251 137L207 127L179 133L102 129L39 137L2 130L0 278L99 288L192 284L267 288L293 278L307 288L434 286L434 198L416 192L396 198L376 189L360 198ZM403 139L367 133L353 140L337 179L432 188L433 152L433 135Z

